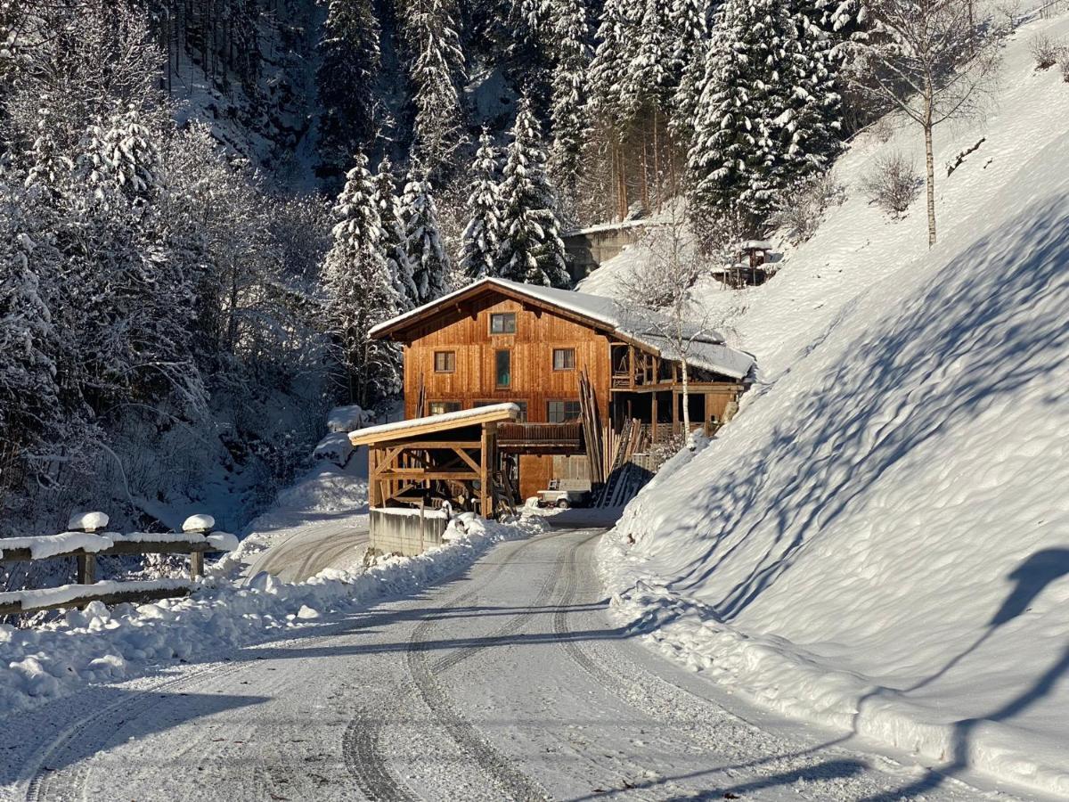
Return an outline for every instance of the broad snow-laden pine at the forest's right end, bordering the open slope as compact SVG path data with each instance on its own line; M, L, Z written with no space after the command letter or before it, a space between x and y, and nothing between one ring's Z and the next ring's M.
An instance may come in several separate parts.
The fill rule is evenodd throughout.
M715 29L688 153L692 210L753 231L826 163L839 98L826 42L786 0L726 0Z

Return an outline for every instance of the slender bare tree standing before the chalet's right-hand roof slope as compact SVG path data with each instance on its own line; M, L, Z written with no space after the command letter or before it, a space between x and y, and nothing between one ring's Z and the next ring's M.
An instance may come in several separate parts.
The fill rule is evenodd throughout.
M697 237L682 204L673 201L663 226L641 244L645 259L632 262L616 280L616 295L632 309L631 325L664 341L662 353L678 359L683 382L683 432L691 433L690 361L695 345L715 337L711 315L695 302L694 286L702 273Z

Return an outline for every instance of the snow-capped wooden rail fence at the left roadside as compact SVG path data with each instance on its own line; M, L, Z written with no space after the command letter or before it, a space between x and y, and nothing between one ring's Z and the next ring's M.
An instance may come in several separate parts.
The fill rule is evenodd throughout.
M40 561L74 557L78 562L78 582L40 590L0 592L0 616L34 613L42 610L82 607L92 601L105 604L148 602L187 596L204 572L204 555L232 551L237 539L216 531L211 515L193 515L181 533L105 531L108 516L102 512L72 518L68 530L59 535L27 538L0 538L0 562ZM154 580L149 582L97 582L96 558L129 554L188 554L189 582Z

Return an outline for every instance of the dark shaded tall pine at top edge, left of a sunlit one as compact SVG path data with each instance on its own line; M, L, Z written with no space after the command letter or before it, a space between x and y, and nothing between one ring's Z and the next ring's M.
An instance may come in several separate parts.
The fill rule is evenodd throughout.
M370 0L330 0L316 73L323 109L322 150L343 165L374 134L374 81L378 73L378 20ZM339 170L340 171L340 170Z

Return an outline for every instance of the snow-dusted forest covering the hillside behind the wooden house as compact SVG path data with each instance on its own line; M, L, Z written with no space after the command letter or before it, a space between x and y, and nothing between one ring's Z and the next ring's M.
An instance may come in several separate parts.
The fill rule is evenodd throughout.
M0 533L102 498L241 525L329 406L396 397L373 325L486 275L567 286L563 230L680 197L710 255L802 236L842 143L982 72L986 27L972 0L0 0Z

